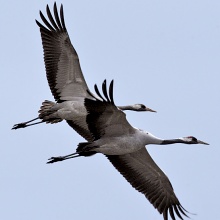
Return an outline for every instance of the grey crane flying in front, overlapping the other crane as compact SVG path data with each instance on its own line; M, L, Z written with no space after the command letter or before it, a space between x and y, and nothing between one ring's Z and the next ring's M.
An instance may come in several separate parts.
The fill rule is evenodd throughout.
M88 113L86 117L88 131L82 136L88 142L79 143L73 154L51 157L48 163L102 153L125 179L163 214L164 220L168 219L168 212L173 220L175 214L183 219L183 215L187 216L187 211L176 197L168 177L153 161L145 145L175 143L208 145L208 143L193 136L164 140L134 128L127 121L125 113L114 104L113 81L109 86L109 92L106 81L102 85L103 95L96 85L95 91L96 96L90 93L93 99L86 98L84 102ZM88 133L90 137L87 136Z

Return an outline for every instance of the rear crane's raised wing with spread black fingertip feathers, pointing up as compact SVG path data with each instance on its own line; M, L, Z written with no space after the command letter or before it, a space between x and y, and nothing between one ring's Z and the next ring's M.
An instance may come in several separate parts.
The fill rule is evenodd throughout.
M64 22L63 6L60 16L54 3L54 17L47 5L47 20L40 11L40 27L44 49L47 80L56 101L73 100L75 97L91 97L84 79L77 52L71 44Z

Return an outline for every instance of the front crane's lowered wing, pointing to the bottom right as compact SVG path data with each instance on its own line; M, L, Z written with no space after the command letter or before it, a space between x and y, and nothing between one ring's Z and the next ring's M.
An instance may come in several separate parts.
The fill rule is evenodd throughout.
M153 161L146 148L124 155L106 155L113 166L139 192L143 193L151 204L168 219L168 212L174 220L174 212L180 218L186 210L176 197L168 177Z

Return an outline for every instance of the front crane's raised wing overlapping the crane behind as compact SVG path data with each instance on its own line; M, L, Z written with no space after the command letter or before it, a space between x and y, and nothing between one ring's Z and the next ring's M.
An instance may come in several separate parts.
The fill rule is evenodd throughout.
M90 93L93 99L85 99L84 105L88 112L86 122L95 140L101 137L118 137L135 132L135 129L128 123L125 113L114 104L113 81L109 86L109 94L106 87L105 80L102 84L103 95L101 95L95 85L96 95L99 98Z

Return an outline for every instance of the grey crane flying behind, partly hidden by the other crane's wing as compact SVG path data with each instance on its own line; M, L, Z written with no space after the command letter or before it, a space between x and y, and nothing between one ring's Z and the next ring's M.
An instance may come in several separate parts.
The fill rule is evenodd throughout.
M71 44L64 21L63 6L60 7L60 16L54 3L54 17L50 9L46 7L49 21L40 11L40 17L45 26L36 20L40 27L42 44L44 49L44 62L50 90L56 100L44 101L39 116L30 121L15 124L12 129L25 128L31 125L46 123L58 123L66 120L78 133L78 118L86 116L84 99L93 98L83 76L76 50ZM118 106L121 110L156 112L143 104ZM35 120L41 121L32 123Z

